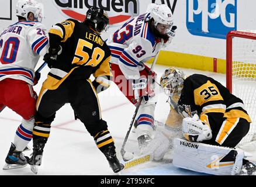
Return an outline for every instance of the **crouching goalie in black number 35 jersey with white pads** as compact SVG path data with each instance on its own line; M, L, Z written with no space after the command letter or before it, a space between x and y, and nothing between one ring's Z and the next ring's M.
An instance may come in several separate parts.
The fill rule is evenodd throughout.
M166 123L172 129L182 124L182 134L187 140L174 142L174 165L217 175L256 175L256 166L244 159L242 150L234 149L248 133L251 123L240 98L211 77L202 74L186 77L175 68L165 70L160 85L171 105ZM218 156L223 164L216 168L209 163L219 154L223 154Z

